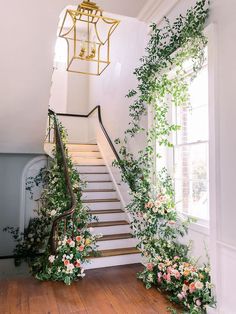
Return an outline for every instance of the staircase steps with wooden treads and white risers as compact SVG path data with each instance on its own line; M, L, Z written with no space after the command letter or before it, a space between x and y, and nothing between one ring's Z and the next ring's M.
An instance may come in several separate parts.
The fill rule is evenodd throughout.
M97 144L68 144L69 155L87 186L82 194L84 205L98 218L90 227L102 234L98 257L91 257L86 269L140 263L127 214L122 210L117 191Z

